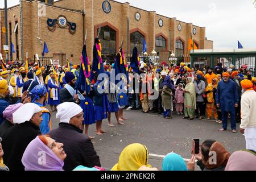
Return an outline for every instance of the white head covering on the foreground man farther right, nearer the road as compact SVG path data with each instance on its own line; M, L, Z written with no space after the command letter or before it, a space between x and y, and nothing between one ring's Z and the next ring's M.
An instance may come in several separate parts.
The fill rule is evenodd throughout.
M56 118L59 118L61 123L69 123L70 119L81 111L82 108L74 102L63 102L57 106Z

